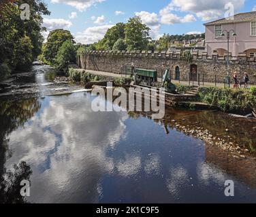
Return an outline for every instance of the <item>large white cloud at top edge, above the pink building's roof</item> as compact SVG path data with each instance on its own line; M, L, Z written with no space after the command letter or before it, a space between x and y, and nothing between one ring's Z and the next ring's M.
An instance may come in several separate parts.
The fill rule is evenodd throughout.
M231 3L238 11L243 5L245 0L172 0L165 11L180 11L196 14L196 16L203 21L212 20L224 17L225 5Z

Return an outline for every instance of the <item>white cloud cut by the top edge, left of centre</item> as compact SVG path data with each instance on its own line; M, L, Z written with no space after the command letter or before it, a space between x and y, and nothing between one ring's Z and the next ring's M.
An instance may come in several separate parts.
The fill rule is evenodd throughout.
M76 9L80 11L84 11L85 9L95 5L95 3L101 3L103 1L106 0L51 0L52 3L65 3L66 5L76 7Z

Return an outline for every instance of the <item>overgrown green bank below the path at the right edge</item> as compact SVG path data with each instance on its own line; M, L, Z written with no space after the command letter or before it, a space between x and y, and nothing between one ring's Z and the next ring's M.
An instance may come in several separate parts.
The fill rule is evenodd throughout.
M199 100L218 106L221 111L246 115L256 108L256 88L251 90L199 87Z

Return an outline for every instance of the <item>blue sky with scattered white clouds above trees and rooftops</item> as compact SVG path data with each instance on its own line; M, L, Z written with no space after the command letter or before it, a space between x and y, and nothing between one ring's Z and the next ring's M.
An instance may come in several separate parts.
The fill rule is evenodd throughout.
M204 33L205 22L223 18L234 5L235 13L256 9L253 0L44 0L51 12L44 17L48 32L71 31L77 42L93 43L117 22L135 15L152 29L157 39L163 33ZM232 4L230 6L230 3ZM226 5L227 4L227 5ZM225 6L228 8L225 9ZM46 36L47 33L44 35Z

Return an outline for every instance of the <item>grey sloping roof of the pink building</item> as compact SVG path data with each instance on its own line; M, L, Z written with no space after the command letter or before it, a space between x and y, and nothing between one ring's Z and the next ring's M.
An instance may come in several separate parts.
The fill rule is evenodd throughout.
M256 12L240 13L240 14L236 14L234 16L234 19L232 17L223 18L221 20L208 22L204 25L212 26L212 25L218 25L218 24L230 24L230 23L232 24L236 22L253 22L253 21L256 21Z

